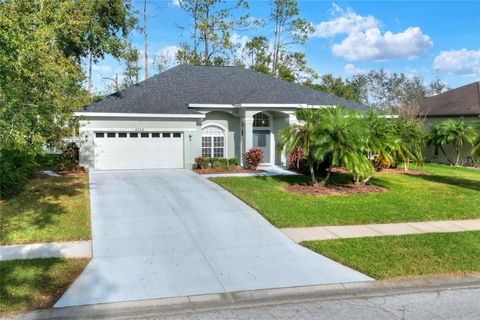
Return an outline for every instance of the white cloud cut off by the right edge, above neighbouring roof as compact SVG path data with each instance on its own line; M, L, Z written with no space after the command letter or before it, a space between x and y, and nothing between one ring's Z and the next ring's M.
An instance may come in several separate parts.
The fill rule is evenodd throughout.
M480 50L442 51L435 57L433 66L450 74L480 76Z

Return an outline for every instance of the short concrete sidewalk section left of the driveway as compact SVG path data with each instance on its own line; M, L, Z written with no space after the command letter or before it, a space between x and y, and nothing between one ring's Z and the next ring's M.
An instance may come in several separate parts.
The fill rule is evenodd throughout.
M0 260L36 258L91 258L91 241L33 243L0 246Z

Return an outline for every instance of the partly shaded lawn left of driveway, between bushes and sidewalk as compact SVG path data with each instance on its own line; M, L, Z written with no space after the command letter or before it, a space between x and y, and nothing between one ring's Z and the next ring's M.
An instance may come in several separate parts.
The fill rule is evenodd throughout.
M88 176L33 179L0 212L1 244L88 240Z

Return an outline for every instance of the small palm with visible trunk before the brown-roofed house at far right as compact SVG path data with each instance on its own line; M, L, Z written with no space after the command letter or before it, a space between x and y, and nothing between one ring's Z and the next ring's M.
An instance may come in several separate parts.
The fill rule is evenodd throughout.
M460 150L465 143L473 144L476 139L476 132L473 126L465 123L463 117L455 121L448 119L438 123L432 130L432 140L440 145L452 144L455 148L455 165L460 162Z

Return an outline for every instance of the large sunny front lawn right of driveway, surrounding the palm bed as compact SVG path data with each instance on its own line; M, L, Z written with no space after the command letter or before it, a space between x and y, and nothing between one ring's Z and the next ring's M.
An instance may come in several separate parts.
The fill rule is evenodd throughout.
M426 164L431 175L377 173L384 193L311 196L286 192L308 177L221 177L212 180L262 213L277 227L307 227L480 218L480 170ZM345 180L345 176L334 176Z

